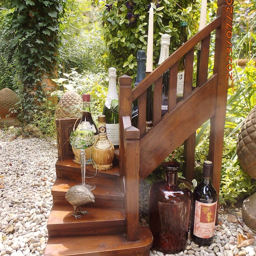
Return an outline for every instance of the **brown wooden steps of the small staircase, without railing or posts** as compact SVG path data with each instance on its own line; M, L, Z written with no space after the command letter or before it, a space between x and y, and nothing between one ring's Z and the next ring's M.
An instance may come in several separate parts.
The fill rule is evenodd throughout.
M87 175L94 173L92 166L87 166ZM71 186L81 183L81 167L72 159L58 160L56 174L44 256L148 255L152 234L147 228L140 227L138 241L127 242L124 193L119 189L118 166L98 171L95 177L87 180L96 185L93 190L95 203L83 206L89 214L77 220L72 216L73 206L65 199L65 193Z

